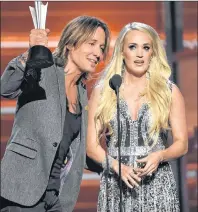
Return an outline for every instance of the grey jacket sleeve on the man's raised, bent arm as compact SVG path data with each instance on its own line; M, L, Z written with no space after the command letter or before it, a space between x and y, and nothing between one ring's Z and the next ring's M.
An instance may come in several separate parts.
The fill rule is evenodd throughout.
M1 76L1 96L9 99L16 98L24 79L25 67L20 62L20 56L11 60Z

